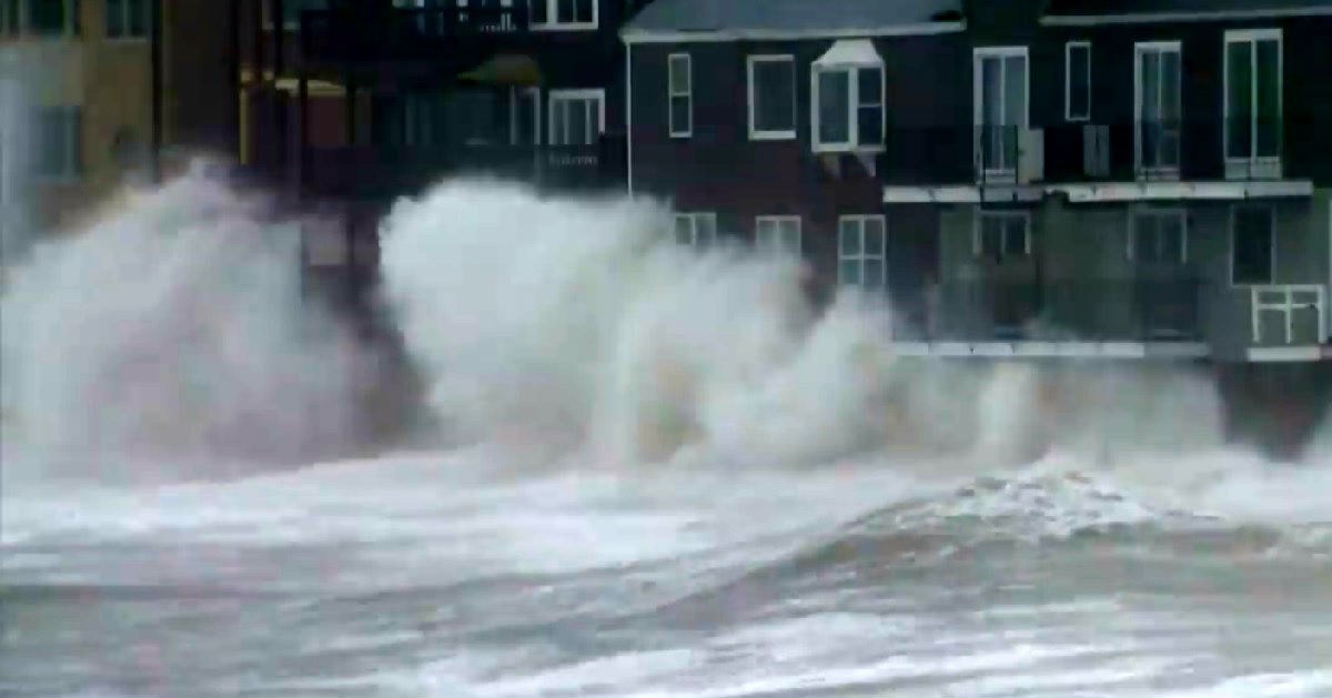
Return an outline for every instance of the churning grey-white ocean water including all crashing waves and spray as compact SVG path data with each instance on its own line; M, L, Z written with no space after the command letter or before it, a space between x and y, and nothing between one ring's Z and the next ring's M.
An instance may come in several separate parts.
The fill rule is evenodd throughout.
M793 260L449 182L384 226L432 424L201 176L11 270L0 695L1329 697L1332 453L1205 376L896 358Z

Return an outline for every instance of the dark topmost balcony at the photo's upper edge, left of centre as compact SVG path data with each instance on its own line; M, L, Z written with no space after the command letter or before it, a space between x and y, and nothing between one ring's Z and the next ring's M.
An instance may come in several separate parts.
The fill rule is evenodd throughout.
M301 55L312 64L441 59L469 48L503 49L531 33L526 3L401 9L381 4L301 13Z

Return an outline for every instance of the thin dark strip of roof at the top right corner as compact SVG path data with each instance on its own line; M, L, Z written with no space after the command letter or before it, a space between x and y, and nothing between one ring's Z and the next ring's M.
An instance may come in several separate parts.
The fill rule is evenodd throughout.
M1332 0L1050 0L1047 23L1332 15Z

